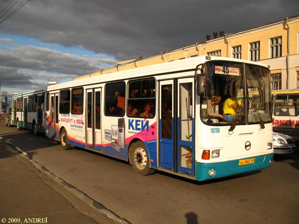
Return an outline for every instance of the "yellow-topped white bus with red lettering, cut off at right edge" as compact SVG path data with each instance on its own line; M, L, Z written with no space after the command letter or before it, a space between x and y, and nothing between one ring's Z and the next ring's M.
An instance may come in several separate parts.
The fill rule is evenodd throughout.
M292 136L298 144L299 89L272 90L273 131Z

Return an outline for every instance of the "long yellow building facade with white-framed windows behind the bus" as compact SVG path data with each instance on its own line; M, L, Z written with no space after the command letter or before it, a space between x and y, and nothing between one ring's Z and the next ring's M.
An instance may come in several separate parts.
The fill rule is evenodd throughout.
M73 79L83 79L200 55L239 58L265 63L270 66L272 89L299 88L299 16L285 18L237 33L224 34L144 59L118 62L113 67Z

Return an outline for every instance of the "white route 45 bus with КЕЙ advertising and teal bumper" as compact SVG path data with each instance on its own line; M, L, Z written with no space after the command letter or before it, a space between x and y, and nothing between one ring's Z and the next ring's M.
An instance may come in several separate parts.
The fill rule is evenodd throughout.
M260 102L250 110L253 88ZM242 103L232 122L209 115L213 95L223 114L235 93ZM202 181L272 165L270 72L261 63L199 56L51 85L44 96L46 136L128 161L141 175Z

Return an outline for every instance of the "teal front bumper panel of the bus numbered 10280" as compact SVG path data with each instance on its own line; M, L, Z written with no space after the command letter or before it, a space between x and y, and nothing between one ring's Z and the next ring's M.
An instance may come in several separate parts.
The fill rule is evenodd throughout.
M272 165L269 164L270 159L273 161L273 153L257 157L248 157L242 159L255 158L254 163L248 165L239 165L239 159L215 162L215 163L200 163L196 162L196 180L209 180L221 177L233 176L250 171L260 170ZM213 168L215 170L212 177L209 176L208 171Z

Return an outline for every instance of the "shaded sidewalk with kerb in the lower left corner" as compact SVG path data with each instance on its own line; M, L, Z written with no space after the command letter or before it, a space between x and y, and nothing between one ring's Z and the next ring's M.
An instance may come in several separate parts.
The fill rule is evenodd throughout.
M8 223L9 218L20 218L19 223L119 223L95 211L80 198L80 192L76 195L36 168L4 139L0 139L0 177L1 223Z

